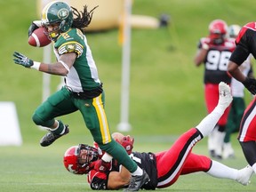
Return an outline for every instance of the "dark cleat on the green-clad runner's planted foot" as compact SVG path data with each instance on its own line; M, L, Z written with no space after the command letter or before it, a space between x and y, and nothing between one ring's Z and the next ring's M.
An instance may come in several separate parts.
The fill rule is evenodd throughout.
M138 191L141 186L149 181L148 173L143 170L142 175L132 176L132 180L128 188L125 188L124 191Z

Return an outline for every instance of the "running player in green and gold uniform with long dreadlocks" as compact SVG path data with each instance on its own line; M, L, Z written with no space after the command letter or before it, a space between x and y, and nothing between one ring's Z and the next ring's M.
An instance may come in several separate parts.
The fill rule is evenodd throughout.
M104 172L108 162L115 158L132 173L133 180L126 190L137 191L148 182L148 173L140 169L124 148L111 137L104 110L102 83L83 31L92 20L92 11L87 12L87 6L84 6L84 12L78 12L76 8L63 2L47 4L43 9L41 20L33 21L28 28L28 36L36 28L44 26L47 35L54 43L57 62L37 62L20 52L13 53L13 60L25 68L65 76L65 85L36 108L33 115L35 124L47 127L49 131L40 141L41 146L49 146L69 132L68 125L56 120L55 117L79 110L92 133L93 140L107 152L94 168Z

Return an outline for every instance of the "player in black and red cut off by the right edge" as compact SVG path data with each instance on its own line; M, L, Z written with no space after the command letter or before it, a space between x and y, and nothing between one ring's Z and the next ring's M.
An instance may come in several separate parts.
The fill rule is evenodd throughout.
M232 53L228 62L228 72L244 84L244 87L253 95L256 94L256 80L246 77L240 70L244 60L252 53L256 59L256 22L244 25L236 37L236 50ZM245 108L244 116L240 124L238 140L244 151L247 162L256 172L256 98Z

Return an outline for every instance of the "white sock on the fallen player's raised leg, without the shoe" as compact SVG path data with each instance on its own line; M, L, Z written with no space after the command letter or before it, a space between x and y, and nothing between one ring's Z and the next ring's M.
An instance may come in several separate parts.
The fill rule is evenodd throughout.
M196 126L196 128L203 134L207 136L212 132L215 125L220 120L220 117L223 115L225 109L221 108L219 105L212 110L208 116L205 116L204 119Z

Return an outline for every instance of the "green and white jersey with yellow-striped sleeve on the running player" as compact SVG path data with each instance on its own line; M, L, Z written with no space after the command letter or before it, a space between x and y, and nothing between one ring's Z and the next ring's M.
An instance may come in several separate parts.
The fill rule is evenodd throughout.
M78 28L70 28L66 33L62 33L54 44L57 60L60 55L68 52L76 53L76 61L65 76L65 84L73 92L89 91L99 86L100 79L92 51L86 36Z

